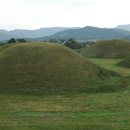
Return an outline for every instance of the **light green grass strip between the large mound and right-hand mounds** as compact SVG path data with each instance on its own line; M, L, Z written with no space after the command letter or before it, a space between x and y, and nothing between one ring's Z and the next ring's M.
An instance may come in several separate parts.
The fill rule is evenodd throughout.
M105 69L116 71L123 76L130 76L130 69L118 66L117 64L123 59L104 59L104 58L89 58L91 62Z

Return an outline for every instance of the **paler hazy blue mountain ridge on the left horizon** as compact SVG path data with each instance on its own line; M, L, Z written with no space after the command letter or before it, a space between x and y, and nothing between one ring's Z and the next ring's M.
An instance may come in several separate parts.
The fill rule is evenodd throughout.
M54 33L69 29L67 27L41 28L37 30L16 29L12 31L0 30L0 40L8 40L10 38L37 38L50 36Z

